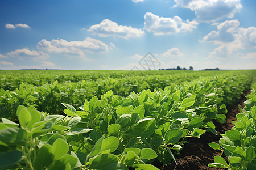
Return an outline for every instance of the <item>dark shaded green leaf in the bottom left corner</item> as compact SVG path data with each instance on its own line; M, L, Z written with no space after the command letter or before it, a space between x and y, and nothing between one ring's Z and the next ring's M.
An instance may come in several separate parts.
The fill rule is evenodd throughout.
M2 152L0 154L0 169L11 168L11 165L14 165L22 160L22 156L23 154L20 151Z

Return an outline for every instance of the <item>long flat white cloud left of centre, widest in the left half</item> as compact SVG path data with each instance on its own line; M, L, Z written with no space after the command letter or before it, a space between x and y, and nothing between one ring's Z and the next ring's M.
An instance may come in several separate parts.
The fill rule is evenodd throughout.
M84 41L66 41L63 39L47 41L43 39L38 42L37 47L47 52L64 53L80 57L85 57L85 52L102 53L109 50L109 46L104 42L90 37L86 37Z

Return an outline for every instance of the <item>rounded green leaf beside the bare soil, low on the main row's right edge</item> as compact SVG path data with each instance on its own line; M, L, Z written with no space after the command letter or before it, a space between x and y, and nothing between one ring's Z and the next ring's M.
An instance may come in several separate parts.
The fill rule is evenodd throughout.
M169 143L176 143L180 140L182 137L183 131L180 129L170 129L166 131L166 134L164 135L164 140L166 145Z

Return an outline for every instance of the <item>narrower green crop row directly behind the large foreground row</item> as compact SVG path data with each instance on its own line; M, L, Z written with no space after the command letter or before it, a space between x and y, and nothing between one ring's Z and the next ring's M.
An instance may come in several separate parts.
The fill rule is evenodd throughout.
M151 72L148 72L151 73ZM105 92L112 90L114 94L122 97L129 96L133 91L141 92L145 89L154 91L155 88L163 89L167 86L187 86L185 81L199 81L199 76L209 74L210 72L180 73L174 75L155 75L155 76L133 76L122 79L108 78L104 80L80 82L46 83L42 86L34 86L32 84L20 84L19 88L14 91L0 89L0 117L16 120L16 109L19 105L29 107L34 106L38 111L44 111L51 114L61 114L63 106L60 104L68 103L76 109L83 104L83 101L90 100L93 96L101 97ZM214 72L215 73L215 72ZM255 71L223 71L213 74L213 80L225 76L225 82L234 82L236 79L244 78L251 80L251 76ZM221 76L219 76L221 74ZM68 75L67 75L68 76ZM15 77L15 76L14 76ZM175 82L175 84L174 84ZM236 88L230 87L226 91L238 91ZM176 88L179 88L176 87ZM225 86L223 87L225 88ZM239 97L240 95L236 96ZM225 96L230 97L230 96Z

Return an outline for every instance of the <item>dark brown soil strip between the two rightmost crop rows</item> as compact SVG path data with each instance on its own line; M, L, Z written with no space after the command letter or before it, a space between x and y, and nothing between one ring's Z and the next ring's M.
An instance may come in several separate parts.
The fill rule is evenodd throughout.
M248 94L249 92L247 92ZM246 100L245 97L242 98L240 105L244 107L243 102ZM232 129L234 126L231 122L236 120L236 114L240 113L238 105L234 105L232 108L228 109L226 114L225 124L220 124L217 121L213 121L216 126L218 135L206 132L201 135L200 138L189 138L188 142L185 143L183 150L180 152L180 156L176 156L176 162L168 164L165 167L161 167L162 170L170 169L200 169L200 170L217 170L222 168L211 168L208 167L209 163L214 163L214 156L220 155L220 151L213 150L208 143L217 142L221 138L220 134L225 133L225 131ZM222 155L224 156L224 154ZM222 169L223 170L223 169Z

